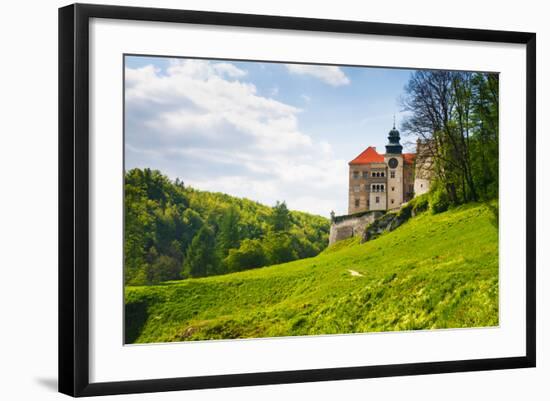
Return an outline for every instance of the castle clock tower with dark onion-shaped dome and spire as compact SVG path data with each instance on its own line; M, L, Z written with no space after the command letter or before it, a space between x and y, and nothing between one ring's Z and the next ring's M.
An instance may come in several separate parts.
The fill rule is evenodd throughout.
M395 128L395 118L393 128L388 134L388 144L386 145L386 154L384 161L388 166L388 184L387 184L387 209L398 209L403 203L404 194L404 176L403 176L403 146L399 142L401 136Z

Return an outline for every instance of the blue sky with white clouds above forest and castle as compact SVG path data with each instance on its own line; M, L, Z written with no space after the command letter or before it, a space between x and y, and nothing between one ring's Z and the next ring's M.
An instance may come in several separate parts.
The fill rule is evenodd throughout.
M126 57L125 168L328 216L347 163L384 152L411 70Z

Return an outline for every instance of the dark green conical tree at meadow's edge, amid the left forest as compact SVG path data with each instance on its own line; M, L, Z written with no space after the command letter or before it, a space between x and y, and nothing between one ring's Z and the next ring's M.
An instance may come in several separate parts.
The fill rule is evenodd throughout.
M217 273L214 232L204 225L191 241L183 264L183 277L204 277Z

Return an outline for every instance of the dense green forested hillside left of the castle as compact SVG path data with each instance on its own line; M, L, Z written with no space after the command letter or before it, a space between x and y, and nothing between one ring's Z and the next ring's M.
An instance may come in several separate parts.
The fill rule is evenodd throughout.
M312 257L328 245L330 222L132 169L124 183L125 285L153 285Z

